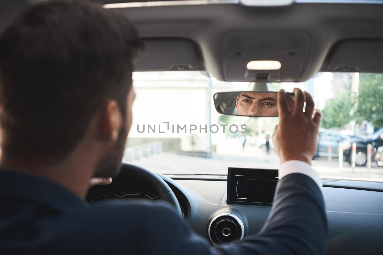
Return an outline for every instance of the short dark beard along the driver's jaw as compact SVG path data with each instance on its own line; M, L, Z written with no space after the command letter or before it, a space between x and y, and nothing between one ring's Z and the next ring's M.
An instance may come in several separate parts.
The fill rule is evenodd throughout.
M125 121L123 121L125 123ZM93 174L94 178L115 177L121 170L121 161L124 156L126 144L126 127L123 125L118 134L116 144L110 149L104 158L98 163Z

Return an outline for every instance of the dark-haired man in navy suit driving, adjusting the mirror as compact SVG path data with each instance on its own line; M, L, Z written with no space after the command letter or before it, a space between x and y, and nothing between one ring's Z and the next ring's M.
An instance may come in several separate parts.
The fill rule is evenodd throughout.
M141 48L123 14L76 1L34 5L2 34L0 254L323 254L321 116L299 89L278 93L280 181L258 236L214 248L167 205L85 205L91 178L118 173Z

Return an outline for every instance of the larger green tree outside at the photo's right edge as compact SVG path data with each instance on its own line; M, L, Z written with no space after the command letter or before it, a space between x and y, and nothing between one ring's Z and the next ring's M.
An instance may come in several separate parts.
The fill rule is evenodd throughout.
M367 120L374 127L383 126L383 76L382 74L359 74L357 121Z

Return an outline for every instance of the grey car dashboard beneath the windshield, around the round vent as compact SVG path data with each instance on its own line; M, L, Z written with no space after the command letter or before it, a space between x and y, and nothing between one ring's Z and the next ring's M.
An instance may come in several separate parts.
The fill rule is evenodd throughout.
M258 170L262 172L262 169ZM267 201L270 194L251 197L252 203L228 200L231 195L237 195L237 190L231 191L233 183L241 185L240 181L248 182L240 178L255 181L260 179L259 175L250 176L246 174L246 169L241 168L234 169L232 174L234 176L229 171L229 181L226 175L158 175L175 193L183 216L193 230L210 239L214 245L219 245L259 232L271 210L271 204ZM263 177L275 179L275 174L275 171L270 171ZM383 183L327 179L322 182L329 223L329 246L333 238L350 232L371 231L376 228L376 223L383 222ZM268 192L275 190L273 185L268 184L265 189ZM249 195L246 194L248 188L244 185L238 195ZM233 194L228 197L228 192ZM131 178L128 174L120 174L110 185L92 187L87 196L91 206L108 200L119 202L125 199L160 202L157 192L148 183L139 178Z

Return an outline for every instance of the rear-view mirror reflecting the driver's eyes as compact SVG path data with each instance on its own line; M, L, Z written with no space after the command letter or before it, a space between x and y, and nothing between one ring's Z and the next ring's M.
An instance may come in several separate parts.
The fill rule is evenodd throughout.
M274 91L236 91L214 94L214 105L224 115L278 117ZM294 93L287 93L294 99Z

